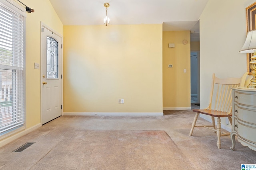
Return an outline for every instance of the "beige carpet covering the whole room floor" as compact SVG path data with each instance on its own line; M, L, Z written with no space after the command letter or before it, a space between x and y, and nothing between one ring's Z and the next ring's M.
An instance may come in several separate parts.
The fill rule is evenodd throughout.
M194 114L61 116L1 147L0 170L236 170L256 164L256 151L239 142L230 150L230 136L221 138L221 149L209 129L189 136ZM206 123L198 118L198 125ZM12 152L26 142L36 143Z

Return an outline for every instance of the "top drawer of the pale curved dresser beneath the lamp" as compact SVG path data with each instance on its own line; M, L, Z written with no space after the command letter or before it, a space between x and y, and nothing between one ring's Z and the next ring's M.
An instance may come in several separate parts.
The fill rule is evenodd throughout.
M248 107L256 107L255 106L256 101L256 94L250 93L250 92L238 92L238 104L241 104L243 106Z

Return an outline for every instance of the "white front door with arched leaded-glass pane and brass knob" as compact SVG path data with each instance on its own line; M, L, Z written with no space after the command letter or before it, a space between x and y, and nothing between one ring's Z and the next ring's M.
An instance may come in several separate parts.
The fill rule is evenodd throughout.
M62 37L41 27L41 122L62 115Z

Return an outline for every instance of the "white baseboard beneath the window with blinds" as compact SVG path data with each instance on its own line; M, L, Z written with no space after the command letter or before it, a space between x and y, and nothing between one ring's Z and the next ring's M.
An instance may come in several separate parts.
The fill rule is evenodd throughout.
M34 125L28 129L24 129L24 127L21 127L20 129L17 129L15 131L12 131L12 132L6 134L5 138L0 141L0 147L14 141L15 139L18 139L19 137L22 137L22 136L38 129L41 126L42 126L41 123L38 123L37 125Z

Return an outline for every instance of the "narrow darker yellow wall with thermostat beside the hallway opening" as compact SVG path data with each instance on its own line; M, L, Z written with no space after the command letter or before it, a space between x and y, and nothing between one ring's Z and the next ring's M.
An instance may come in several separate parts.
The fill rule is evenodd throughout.
M182 44L184 39L186 45ZM168 43L175 47L169 48ZM163 107L190 107L190 31L163 31Z

